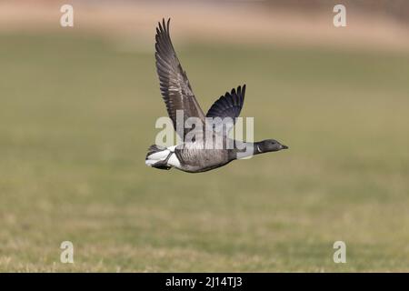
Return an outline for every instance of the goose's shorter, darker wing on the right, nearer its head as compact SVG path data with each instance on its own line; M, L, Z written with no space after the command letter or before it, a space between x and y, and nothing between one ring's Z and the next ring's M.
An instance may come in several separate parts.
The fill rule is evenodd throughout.
M235 118L240 115L244 104L245 85L238 86L237 91L232 90L231 93L226 92L223 96L217 99L209 109L206 117L220 117L223 120L227 129L227 133L233 128ZM228 117L228 118L226 118ZM215 123L217 126L217 123Z

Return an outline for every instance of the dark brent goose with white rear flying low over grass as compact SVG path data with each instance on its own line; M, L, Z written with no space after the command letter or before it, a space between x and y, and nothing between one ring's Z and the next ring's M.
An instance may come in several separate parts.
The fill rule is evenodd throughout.
M172 119L175 131L182 137L184 142L170 147L150 146L145 158L145 164L158 169L169 170L175 167L185 172L199 173L224 166L237 158L276 152L288 148L288 146L284 146L274 139L246 143L233 140L227 136L243 107L245 85L238 86L231 93L226 92L225 95L222 95L214 102L206 115L203 113L197 103L187 75L176 56L169 35L169 22L170 19L167 23L163 19L162 24L159 23L158 27L156 27L156 70L159 75L160 89L165 100L167 113ZM205 138L205 136L208 136L205 135L207 127L203 129L201 126L195 126L192 130L183 126L182 130L180 130L176 123L176 120L180 120L176 118L180 112L183 113L182 122L184 122L184 125L189 117L195 117L202 125L206 125L209 118L220 117L217 122L211 125L212 134L210 137L212 142L217 140L215 145L211 147L204 146L206 140L208 140ZM220 124L220 119L223 120L224 127L222 127L222 130L217 130L220 127L215 127L215 125ZM227 120L227 122L224 120ZM195 133L191 139L186 138L189 132ZM231 146L226 146L227 144Z

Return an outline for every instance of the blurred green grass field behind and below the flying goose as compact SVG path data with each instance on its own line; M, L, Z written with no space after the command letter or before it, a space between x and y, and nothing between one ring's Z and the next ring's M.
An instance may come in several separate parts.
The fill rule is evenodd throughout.
M255 139L290 150L146 167L154 45L1 35L0 271L409 271L409 55L177 44L205 111L245 83Z

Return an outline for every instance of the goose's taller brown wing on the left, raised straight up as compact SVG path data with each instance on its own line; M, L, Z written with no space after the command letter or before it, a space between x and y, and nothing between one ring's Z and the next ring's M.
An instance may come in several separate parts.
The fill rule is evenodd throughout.
M205 115L197 103L187 75L177 59L174 45L172 45L169 35L169 22L170 19L167 23L163 19L162 24L159 23L158 27L156 27L155 58L161 93L165 100L167 113L172 119L177 132L176 110L184 111L184 124L186 118L198 117L203 122L203 125L205 125ZM185 128L181 137L185 138L185 135L190 130L190 128Z

